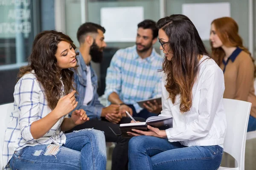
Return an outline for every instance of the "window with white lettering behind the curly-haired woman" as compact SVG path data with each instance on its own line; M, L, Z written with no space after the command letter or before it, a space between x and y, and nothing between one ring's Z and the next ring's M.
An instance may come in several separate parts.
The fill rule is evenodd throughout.
M27 61L33 37L33 1L0 0L0 65Z

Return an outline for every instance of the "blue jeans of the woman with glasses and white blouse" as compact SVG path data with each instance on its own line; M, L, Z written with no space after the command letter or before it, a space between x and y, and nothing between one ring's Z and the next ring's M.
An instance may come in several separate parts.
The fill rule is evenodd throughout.
M129 170L216 170L223 148L186 147L153 136L136 136L129 142Z

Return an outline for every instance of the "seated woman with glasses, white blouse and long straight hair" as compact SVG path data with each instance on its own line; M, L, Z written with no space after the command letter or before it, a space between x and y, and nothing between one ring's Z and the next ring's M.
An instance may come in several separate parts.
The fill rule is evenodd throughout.
M157 27L165 54L159 116L172 117L173 127L128 132L135 136L129 142L129 169L216 170L227 126L223 72L188 17L171 15Z

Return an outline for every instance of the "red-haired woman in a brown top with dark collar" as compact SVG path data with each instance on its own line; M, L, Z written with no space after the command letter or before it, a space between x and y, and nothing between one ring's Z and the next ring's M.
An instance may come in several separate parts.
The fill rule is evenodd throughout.
M230 17L213 20L210 43L212 57L224 73L226 88L223 97L251 102L247 131L256 130L256 69L253 57L238 34L236 21Z

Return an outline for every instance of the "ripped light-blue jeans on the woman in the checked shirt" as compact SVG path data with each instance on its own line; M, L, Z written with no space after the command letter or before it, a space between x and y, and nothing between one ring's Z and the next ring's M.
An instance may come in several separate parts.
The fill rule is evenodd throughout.
M106 144L99 130L66 134L66 144L41 144L15 151L12 170L105 170Z

